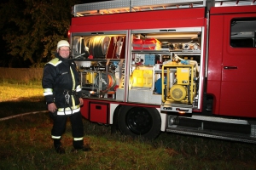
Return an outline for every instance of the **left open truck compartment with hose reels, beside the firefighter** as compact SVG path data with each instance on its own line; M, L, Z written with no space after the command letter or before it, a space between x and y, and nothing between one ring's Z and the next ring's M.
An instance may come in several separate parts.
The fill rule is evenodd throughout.
M73 33L72 54L84 97L115 99L125 61L127 31Z

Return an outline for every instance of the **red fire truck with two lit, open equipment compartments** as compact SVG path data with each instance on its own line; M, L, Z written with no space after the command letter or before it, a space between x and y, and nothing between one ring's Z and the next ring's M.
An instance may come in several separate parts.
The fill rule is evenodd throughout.
M114 0L73 7L82 115L113 132L256 143L256 5Z

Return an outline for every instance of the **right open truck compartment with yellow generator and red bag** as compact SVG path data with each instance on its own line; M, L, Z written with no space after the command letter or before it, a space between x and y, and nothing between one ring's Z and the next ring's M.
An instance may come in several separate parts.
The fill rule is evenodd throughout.
M202 31L201 27L131 31L128 101L163 108L183 105L189 112L198 108ZM179 95L182 98L175 99Z

